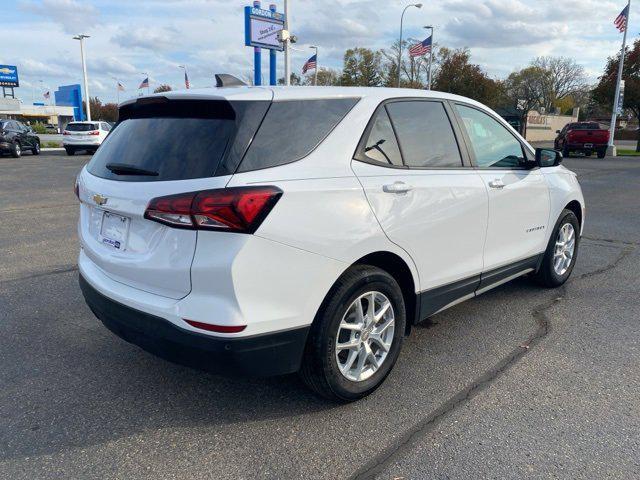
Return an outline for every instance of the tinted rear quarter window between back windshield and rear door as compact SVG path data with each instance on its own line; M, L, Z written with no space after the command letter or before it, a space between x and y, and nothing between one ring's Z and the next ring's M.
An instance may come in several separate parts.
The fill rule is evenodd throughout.
M358 100L331 98L274 102L238 171L275 167L306 157Z

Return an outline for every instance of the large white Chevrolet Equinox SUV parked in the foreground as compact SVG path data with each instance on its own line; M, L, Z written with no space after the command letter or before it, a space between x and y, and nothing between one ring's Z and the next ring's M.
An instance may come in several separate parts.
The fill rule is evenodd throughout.
M114 333L225 374L378 387L411 326L530 273L562 285L576 175L498 115L385 88L142 97L77 180L80 285Z

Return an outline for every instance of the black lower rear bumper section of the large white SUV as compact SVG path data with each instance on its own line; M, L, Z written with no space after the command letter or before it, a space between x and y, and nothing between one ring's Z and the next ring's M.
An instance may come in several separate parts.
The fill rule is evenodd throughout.
M111 300L82 275L80 288L87 305L109 330L166 360L225 375L284 375L300 368L309 326L237 339L216 338Z

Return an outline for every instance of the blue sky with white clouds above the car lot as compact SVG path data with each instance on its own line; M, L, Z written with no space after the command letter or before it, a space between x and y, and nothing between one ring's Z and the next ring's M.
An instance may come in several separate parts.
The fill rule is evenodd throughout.
M419 1L419 0L418 0ZM422 0L405 16L405 36L422 37L436 26L436 43L469 47L472 60L490 75L504 77L539 55L564 55L583 65L592 81L606 58L620 48L613 20L624 0ZM4 2L3 2L4 3ZM213 74L251 77L253 52L245 47L242 0L17 0L3 6L0 63L17 65L25 102L42 101L43 90L81 83L77 33L87 40L90 94L115 101L114 77L137 94L148 72L152 88L183 85L178 65L187 65L193 87L212 85ZM270 2L264 2L267 6ZM273 3L282 9L282 0ZM339 67L349 47L388 47L398 37L400 13L408 1L290 0L297 34L293 70L300 71L320 47L320 64ZM636 22L636 18L638 22ZM632 10L630 41L640 10ZM635 28L634 28L635 27ZM7 41L6 39L10 39ZM267 55L263 74L268 75ZM278 63L282 76L282 55ZM40 83L42 80L42 83ZM41 85L43 88L41 88Z

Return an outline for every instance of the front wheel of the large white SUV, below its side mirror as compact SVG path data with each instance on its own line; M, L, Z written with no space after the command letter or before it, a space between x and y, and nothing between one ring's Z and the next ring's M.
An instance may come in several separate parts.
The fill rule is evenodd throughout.
M541 285L557 288L571 276L578 258L580 223L575 213L563 210L549 239L547 250L535 278Z

